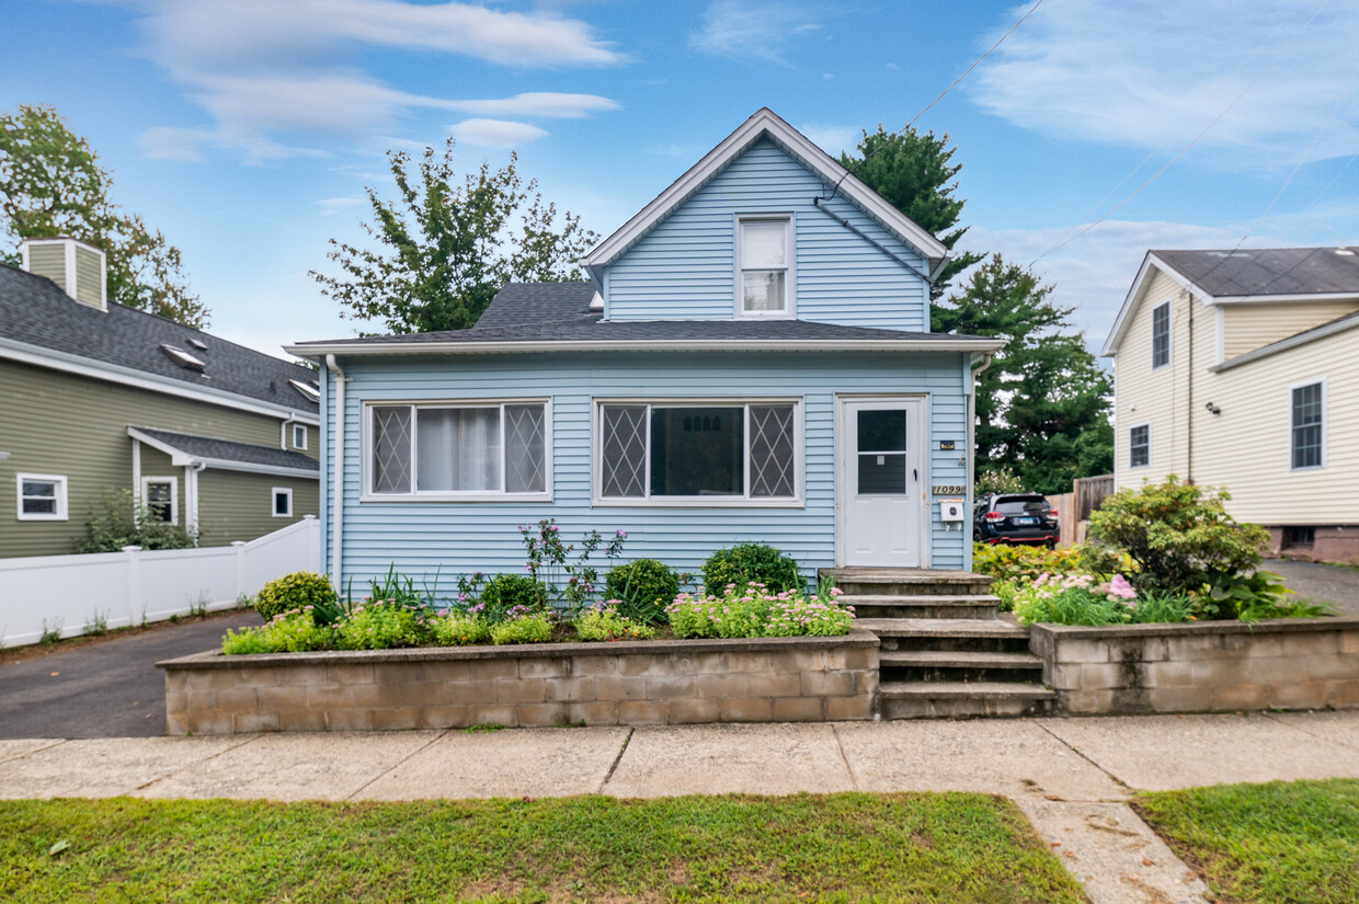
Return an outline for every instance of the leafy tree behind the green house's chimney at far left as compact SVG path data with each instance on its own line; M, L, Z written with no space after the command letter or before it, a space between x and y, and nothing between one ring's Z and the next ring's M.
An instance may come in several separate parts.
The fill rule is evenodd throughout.
M26 238L69 235L103 249L109 298L189 326L207 326L208 309L186 284L179 249L141 216L109 200L113 179L90 143L50 106L0 113L0 213L5 247L18 264Z

